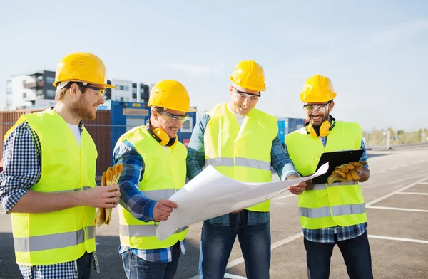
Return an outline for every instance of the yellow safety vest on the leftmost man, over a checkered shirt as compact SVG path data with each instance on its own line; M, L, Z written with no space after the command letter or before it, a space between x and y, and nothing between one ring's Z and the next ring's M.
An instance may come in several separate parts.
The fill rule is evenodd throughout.
M28 122L41 144L41 177L31 191L58 193L96 186L96 146L83 127L81 146L54 110L21 115L14 127ZM16 263L52 265L95 251L95 209L76 206L44 214L12 213Z

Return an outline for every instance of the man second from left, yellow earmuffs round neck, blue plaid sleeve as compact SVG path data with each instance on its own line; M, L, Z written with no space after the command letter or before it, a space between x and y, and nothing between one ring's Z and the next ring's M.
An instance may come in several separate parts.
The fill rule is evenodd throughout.
M118 184L119 253L130 279L173 278L178 260L185 253L188 227L169 238L156 238L156 222L168 220L177 204L168 199L185 185L187 150L177 132L188 118L190 98L175 80L163 80L151 90L151 117L122 135L113 152L116 164L123 164Z

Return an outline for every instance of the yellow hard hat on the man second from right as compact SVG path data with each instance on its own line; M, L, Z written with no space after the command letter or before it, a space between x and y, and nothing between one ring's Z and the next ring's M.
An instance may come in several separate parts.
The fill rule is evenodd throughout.
M241 61L236 65L230 80L242 88L265 91L265 71L253 60Z

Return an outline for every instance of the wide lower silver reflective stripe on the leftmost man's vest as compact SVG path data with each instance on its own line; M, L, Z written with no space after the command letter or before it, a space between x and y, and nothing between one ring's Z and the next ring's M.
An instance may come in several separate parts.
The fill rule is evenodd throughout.
M86 239L85 234L87 236ZM68 233L14 238L14 246L17 252L34 252L76 246L92 238L95 238L95 226L88 226Z

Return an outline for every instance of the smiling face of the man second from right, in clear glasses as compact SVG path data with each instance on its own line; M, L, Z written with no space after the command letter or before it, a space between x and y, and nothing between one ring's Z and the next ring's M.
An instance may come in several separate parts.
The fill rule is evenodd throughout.
M260 92L257 90L242 88L238 85L230 85L229 91L231 96L230 110L240 115L246 115L250 110L253 110L260 98Z

